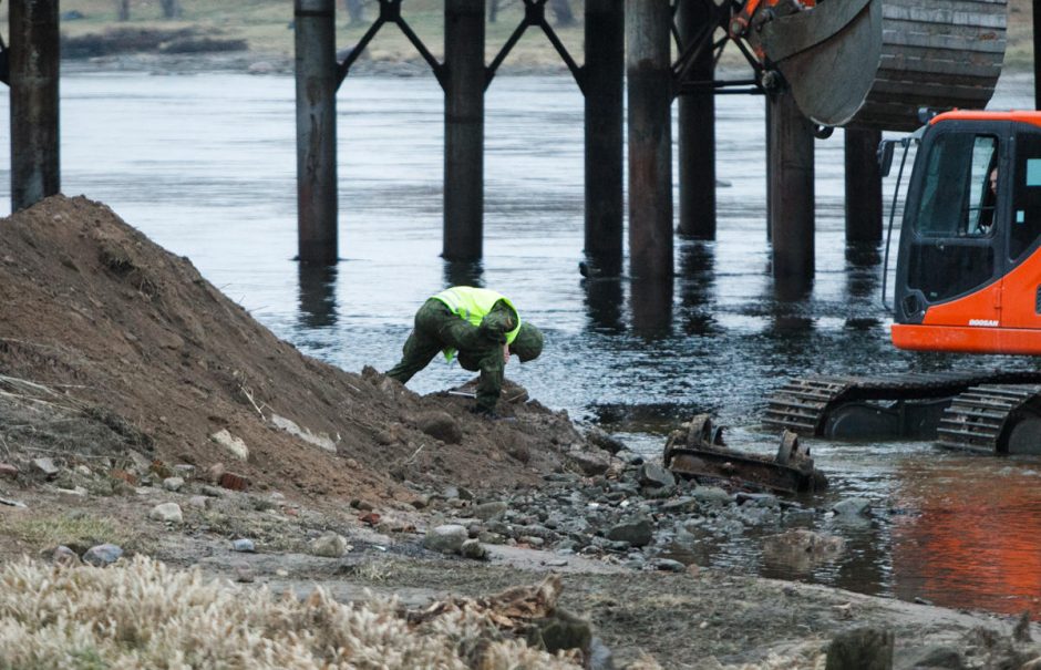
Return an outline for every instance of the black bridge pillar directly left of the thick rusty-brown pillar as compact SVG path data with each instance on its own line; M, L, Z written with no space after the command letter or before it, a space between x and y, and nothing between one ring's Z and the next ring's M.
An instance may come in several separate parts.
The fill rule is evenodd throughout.
M625 0L586 0L586 257L621 274Z

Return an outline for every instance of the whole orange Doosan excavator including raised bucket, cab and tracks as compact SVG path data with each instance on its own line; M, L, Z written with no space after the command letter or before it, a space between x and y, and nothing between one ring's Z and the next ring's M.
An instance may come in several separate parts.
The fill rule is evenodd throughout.
M897 254L901 349L1041 354L1041 112L970 111L993 93L1006 11L1004 0L750 0L730 22L816 123L918 128L879 150L888 172L897 144L905 158L918 145ZM763 423L1038 454L1041 372L794 379Z

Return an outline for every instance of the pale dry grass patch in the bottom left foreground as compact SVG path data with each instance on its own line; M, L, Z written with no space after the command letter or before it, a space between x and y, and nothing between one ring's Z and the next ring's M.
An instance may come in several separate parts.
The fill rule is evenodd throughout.
M342 605L243 590L144 557L100 569L30 560L0 571L0 669L575 669L487 616L410 626L392 600Z

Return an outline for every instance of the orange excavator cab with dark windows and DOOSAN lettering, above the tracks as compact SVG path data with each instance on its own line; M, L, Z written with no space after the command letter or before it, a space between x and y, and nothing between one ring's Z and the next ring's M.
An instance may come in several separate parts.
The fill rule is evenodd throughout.
M1041 353L1041 113L948 112L904 207L893 342Z

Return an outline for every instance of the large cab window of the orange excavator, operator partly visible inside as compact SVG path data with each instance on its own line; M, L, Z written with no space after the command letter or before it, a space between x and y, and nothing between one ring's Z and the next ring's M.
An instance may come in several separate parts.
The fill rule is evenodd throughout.
M906 250L907 288L920 291L929 303L969 292L994 277L998 209L990 177L998 148L996 135L972 132L937 134L927 147L919 197L908 203L905 226L913 233Z

